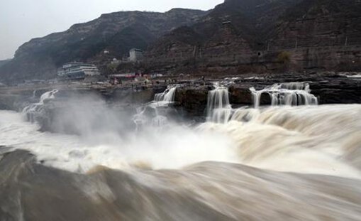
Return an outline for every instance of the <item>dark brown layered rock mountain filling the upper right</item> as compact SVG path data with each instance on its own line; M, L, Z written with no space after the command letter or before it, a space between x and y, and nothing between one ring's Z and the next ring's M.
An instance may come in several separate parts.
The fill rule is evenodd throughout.
M358 0L228 0L189 27L197 41L179 41L176 30L145 61L149 70L357 70L360 23Z

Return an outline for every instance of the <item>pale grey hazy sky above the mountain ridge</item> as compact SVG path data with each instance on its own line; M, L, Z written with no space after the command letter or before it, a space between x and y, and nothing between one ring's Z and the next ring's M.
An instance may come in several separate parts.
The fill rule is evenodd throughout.
M65 31L74 23L114 11L213 9L223 0L0 0L0 60L31 38Z

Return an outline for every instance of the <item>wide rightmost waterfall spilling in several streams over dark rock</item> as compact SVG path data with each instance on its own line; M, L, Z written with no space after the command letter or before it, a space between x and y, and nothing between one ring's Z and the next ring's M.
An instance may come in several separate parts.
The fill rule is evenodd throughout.
M317 105L318 99L311 94L310 85L304 82L291 82L284 84L275 84L266 87L263 90L255 90L250 88L252 92L255 108L260 107L260 99L262 94L267 93L271 98L271 105Z

